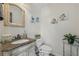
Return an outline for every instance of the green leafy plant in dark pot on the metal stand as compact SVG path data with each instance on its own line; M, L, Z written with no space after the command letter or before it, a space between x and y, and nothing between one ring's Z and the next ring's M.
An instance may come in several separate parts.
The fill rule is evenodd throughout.
M77 38L76 35L72 35L71 33L69 33L69 34L65 34L64 35L64 39L63 40L67 40L69 44L73 44L74 41L76 41L77 43L79 43L79 41L76 40L76 39L79 39L79 38Z

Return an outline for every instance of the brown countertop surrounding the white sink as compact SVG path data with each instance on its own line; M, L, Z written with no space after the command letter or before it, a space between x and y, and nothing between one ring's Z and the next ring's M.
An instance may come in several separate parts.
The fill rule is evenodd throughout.
M27 45L27 44L30 44L30 43L36 41L34 39L32 40L31 38L28 38L28 40L29 40L28 42L25 42L25 43L22 43L22 44L11 44L11 42L2 44L2 46L0 47L0 51L2 51L2 52L8 52L8 51L16 49L16 48L18 48L20 46Z

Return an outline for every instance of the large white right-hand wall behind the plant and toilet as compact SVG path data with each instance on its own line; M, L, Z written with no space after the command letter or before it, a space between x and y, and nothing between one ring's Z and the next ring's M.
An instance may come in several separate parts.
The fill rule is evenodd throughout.
M32 15L40 17L42 39L52 47L53 54L63 55L63 35L72 33L79 36L79 4L32 4L31 10ZM58 24L51 24L50 21L54 17L59 17L62 12L68 14L68 20L59 21ZM38 27L35 29L38 30Z

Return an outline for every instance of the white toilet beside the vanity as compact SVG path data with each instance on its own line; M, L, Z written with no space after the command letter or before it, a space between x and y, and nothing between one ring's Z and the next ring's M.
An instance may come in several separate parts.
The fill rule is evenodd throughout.
M36 46L38 48L37 51L39 51L39 56L49 56L52 52L52 48L45 44L42 39L36 40Z

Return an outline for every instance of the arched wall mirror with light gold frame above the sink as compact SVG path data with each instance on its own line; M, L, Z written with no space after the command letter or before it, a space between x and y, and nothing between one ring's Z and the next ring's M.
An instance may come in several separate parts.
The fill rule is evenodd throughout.
M4 3L3 15L5 26L25 26L25 11L17 4Z

